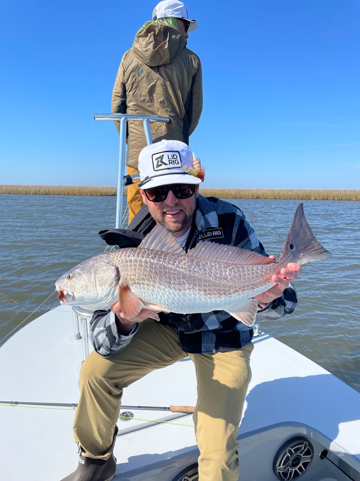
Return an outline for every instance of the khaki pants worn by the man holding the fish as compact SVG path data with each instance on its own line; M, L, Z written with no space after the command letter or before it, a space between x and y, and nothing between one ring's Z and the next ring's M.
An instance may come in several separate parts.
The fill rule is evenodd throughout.
M199 481L236 481L242 408L251 379L253 345L216 354L189 354L195 364L198 398L193 414L200 450ZM80 371L80 401L74 419L74 438L85 456L107 459L122 390L149 372L186 357L177 329L151 319L140 323L132 342L119 354L104 359L95 351Z

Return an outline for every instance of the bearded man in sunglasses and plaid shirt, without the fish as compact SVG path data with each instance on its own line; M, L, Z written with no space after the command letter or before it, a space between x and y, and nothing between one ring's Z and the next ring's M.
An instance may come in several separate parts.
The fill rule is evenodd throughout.
M145 147L139 170L139 189L146 205L128 227L135 245L158 223L186 252L211 237L213 242L267 255L238 207L199 195L204 172L185 143L162 140ZM281 275L273 276L276 285L255 296L257 316L278 319L291 314L297 296L290 281L300 273L298 264L288 264ZM187 356L195 364L197 378L193 420L200 450L199 481L238 480L237 436L251 380L253 329L225 311L187 315L160 312L159 322L149 318L153 314L143 309L126 319L119 302L111 311L95 311L90 321L95 350L82 363L81 394L73 425L79 465L63 481L112 479L123 389Z

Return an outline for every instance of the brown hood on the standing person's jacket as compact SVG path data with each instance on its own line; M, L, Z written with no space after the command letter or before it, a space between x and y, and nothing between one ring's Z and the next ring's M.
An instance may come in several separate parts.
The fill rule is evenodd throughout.
M160 22L146 22L132 45L135 56L149 67L171 63L187 41L178 30Z

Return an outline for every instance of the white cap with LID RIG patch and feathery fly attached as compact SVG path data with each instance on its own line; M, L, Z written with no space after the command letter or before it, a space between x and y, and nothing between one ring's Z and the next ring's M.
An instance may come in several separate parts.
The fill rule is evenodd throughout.
M192 151L179 140L161 140L144 147L139 155L141 189L168 184L200 184L201 179L190 174Z

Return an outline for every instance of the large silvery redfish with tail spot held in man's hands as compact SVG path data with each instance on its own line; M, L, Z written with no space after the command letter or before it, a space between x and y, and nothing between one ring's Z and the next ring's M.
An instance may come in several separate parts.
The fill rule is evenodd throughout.
M55 285L62 304L108 309L119 299L127 318L142 308L180 314L224 310L252 326L258 305L252 297L275 285L274 274L290 262L303 265L330 255L313 235L301 203L276 259L210 241L185 253L170 232L156 226L139 247L96 255Z

